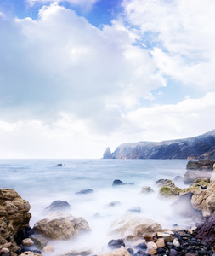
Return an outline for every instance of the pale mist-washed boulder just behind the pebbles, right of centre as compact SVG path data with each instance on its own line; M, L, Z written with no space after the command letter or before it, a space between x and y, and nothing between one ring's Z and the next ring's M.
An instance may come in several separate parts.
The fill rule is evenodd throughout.
M161 225L149 218L125 214L110 224L109 234L119 238L143 237L161 231Z

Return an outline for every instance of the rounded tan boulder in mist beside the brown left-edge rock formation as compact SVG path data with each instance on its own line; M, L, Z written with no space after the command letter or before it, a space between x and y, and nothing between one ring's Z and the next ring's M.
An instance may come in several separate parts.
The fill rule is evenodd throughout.
M48 218L39 220L33 230L50 239L67 240L91 229L84 218L74 218L69 213L53 212Z

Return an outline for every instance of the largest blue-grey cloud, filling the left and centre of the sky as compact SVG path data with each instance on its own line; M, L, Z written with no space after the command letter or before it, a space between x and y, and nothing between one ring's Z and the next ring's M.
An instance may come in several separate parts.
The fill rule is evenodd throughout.
M4 117L52 121L64 111L88 119L97 132L114 130L122 109L165 86L131 35L119 22L99 30L56 3L38 20L7 24L0 49Z

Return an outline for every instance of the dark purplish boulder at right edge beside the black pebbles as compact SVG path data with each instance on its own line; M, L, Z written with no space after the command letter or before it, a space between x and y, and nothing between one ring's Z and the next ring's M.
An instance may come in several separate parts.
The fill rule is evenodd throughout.
M215 215L212 215L208 221L203 224L196 236L197 239L205 241L208 245L215 242Z

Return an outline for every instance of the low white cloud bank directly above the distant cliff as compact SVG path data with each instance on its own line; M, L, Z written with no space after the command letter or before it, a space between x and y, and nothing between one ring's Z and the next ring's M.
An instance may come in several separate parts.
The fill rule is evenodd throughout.
M177 104L139 108L124 116L121 131L133 141L162 141L193 137L215 127L215 92L200 99L185 99ZM139 139L141 138L141 139Z

